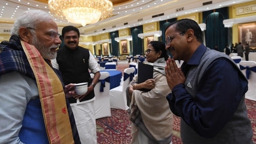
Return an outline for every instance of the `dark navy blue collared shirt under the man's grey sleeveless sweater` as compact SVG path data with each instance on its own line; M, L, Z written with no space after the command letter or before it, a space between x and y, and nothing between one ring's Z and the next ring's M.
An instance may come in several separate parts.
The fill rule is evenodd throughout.
M189 61L183 62L181 69L185 75L191 66L199 65L206 49L200 45ZM181 117L202 137L210 138L216 136L232 118L247 90L248 82L238 69L227 59L218 58L202 75L194 98L184 84L178 84L167 100L173 114Z

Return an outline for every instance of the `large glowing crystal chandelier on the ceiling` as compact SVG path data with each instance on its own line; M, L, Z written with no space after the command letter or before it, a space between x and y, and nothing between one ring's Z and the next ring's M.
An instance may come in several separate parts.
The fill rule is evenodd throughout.
M48 0L48 5L56 18L83 27L111 17L113 10L110 0Z

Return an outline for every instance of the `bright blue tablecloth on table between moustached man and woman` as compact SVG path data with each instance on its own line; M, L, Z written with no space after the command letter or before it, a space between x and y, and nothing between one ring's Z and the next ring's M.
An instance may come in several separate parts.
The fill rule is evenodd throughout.
M122 72L119 70L100 70L100 72L108 72L110 75L110 89L118 87L121 82Z

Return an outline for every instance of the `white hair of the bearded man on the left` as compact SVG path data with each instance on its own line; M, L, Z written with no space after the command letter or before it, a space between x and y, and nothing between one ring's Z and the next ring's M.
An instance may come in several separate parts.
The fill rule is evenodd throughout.
M52 16L41 10L28 10L19 16L14 22L14 27L11 29L11 36L15 35L20 38L20 27L35 28L42 21L53 19Z

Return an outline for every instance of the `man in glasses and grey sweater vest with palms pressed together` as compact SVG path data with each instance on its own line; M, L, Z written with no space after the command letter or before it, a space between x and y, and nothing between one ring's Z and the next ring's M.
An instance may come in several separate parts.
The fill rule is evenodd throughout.
M173 114L181 117L182 144L253 144L245 105L248 81L235 62L202 44L194 20L171 23L165 36L173 55L165 67L172 89L167 100ZM174 60L184 61L181 68Z

